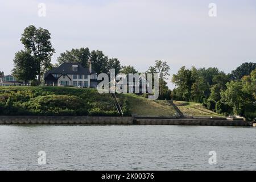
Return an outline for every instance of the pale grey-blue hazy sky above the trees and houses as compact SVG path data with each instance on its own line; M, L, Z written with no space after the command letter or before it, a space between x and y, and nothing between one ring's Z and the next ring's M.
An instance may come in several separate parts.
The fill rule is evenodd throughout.
M39 3L46 5L46 16L38 15ZM217 16L209 16L210 3ZM0 0L0 20L5 75L31 24L51 33L53 64L61 52L81 47L99 49L139 72L155 60L166 61L171 75L183 65L229 73L242 63L256 63L255 0Z

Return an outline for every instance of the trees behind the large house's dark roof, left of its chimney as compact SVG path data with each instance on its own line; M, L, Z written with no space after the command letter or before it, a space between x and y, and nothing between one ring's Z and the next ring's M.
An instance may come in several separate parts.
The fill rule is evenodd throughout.
M80 63L82 67L88 67L88 60L90 58L90 50L88 47L80 49L71 49L60 54L57 58L59 64L62 63Z

